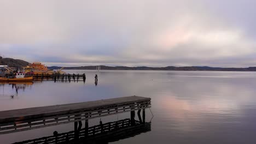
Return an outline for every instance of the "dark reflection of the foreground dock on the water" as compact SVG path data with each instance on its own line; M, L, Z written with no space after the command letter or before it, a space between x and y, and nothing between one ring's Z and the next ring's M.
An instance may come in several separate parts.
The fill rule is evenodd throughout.
M151 122L141 123L135 121L132 124L131 119L126 118L115 122L100 122L98 125L67 133L58 134L57 131L54 131L53 136L15 143L109 143L147 133L148 131L151 131Z

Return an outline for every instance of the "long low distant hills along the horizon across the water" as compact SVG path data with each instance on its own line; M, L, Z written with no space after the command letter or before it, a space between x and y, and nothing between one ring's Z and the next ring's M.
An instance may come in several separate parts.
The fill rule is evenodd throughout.
M48 69L60 69L61 67L48 67ZM65 67L64 69L96 70L96 66ZM217 68L217 67L109 67L101 65L101 70L183 70L183 71L256 71L256 67L249 68Z

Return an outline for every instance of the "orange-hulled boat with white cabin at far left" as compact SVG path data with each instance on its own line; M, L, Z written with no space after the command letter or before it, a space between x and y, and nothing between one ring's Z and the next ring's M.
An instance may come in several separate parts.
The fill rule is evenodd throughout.
M33 76L26 77L24 72L17 72L14 77L0 77L0 82L32 82Z

